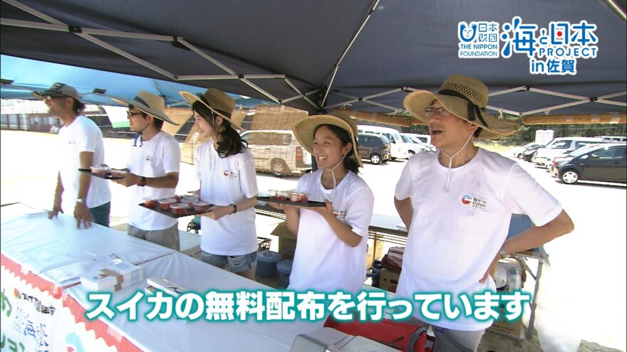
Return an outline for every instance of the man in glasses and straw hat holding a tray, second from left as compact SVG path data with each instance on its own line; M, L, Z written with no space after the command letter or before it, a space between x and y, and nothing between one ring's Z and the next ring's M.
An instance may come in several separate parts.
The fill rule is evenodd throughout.
M175 194L181 150L179 142L161 128L164 121L177 123L165 113L163 98L145 90L131 100L112 99L128 107L128 124L136 133L126 165L128 174L113 180L131 190L128 234L179 250L178 220L138 206L145 197L165 198Z

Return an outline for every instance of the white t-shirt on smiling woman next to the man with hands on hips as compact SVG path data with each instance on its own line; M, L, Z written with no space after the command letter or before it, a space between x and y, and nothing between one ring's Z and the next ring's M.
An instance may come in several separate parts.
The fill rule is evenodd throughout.
M356 247L347 245L321 215L301 208L288 289L356 293L366 279L366 242L374 196L366 182L351 171L337 185L333 195L332 189L322 186L322 172L302 176L296 190L309 193L311 201L331 201L336 217L362 239Z

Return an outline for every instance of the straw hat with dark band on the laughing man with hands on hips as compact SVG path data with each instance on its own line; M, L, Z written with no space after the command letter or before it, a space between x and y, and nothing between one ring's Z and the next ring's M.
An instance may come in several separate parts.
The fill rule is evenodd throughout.
M497 139L516 133L518 125L499 119L485 112L488 89L480 80L462 75L451 75L440 86L437 93L428 90L411 92L403 100L405 109L415 118L427 122L425 108L437 100L451 114L481 127L480 139Z

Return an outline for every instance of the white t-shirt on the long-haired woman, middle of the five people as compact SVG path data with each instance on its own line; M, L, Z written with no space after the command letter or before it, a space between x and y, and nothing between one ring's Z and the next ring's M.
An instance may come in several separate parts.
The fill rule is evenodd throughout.
M257 174L249 149L220 158L213 142L201 144L195 152L200 199L214 206L229 206L257 196ZM254 208L237 210L218 220L200 218L200 248L214 255L245 255L257 251Z

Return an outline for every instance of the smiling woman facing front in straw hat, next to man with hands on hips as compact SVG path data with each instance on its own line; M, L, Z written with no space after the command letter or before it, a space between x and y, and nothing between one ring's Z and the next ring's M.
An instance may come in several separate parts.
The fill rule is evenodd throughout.
M357 176L362 166L357 125L346 115L314 115L294 123L294 135L314 155L318 171L305 174L296 191L326 207L281 206L296 234L288 289L358 292L366 277L366 240L374 196Z

